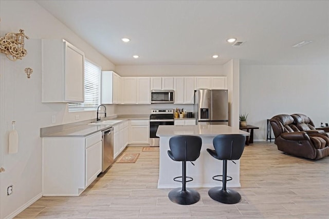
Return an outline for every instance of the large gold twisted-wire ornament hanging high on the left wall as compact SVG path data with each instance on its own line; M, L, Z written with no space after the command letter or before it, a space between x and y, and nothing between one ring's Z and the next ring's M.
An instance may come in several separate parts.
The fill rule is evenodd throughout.
M11 61L22 59L27 54L24 38L29 39L22 29L19 33L7 33L5 37L0 37L0 52L5 53Z

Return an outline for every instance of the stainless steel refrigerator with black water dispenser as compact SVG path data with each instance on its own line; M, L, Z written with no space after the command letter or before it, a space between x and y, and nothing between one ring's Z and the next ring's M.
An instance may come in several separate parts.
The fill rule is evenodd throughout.
M196 90L194 116L198 125L228 125L228 90Z

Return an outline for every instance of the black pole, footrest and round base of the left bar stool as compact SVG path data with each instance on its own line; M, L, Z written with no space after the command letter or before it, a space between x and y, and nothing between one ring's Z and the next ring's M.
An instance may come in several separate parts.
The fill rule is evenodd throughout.
M176 180L177 178L182 178L181 181ZM186 181L186 178L191 180ZM168 197L170 201L177 203L179 205L192 205L200 200L200 194L193 190L186 188L186 182L192 181L193 178L186 176L186 161L182 162L182 176L175 177L174 181L181 182L182 188L173 189L169 192Z

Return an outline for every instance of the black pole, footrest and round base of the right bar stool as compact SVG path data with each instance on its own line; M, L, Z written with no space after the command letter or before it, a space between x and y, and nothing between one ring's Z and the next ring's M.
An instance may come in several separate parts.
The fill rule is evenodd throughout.
M241 195L232 189L226 188L227 182L227 160L223 160L223 187L214 187L208 191L209 196L220 203L236 204L241 201Z

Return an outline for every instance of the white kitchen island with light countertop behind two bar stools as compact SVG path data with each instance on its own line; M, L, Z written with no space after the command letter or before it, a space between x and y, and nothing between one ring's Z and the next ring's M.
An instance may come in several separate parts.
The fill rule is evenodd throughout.
M156 136L160 137L160 161L158 188L177 188L181 183L173 181L176 176L181 176L181 162L171 160L167 151L169 140L176 135L197 135L202 138L200 156L193 166L187 162L187 176L193 181L187 183L187 187L204 188L221 186L221 182L214 181L214 175L222 174L223 162L213 158L207 148L214 149L212 140L220 134L243 134L249 136L248 132L227 125L190 125L190 126L159 126ZM227 187L240 187L240 160L228 162L227 174L233 179L227 182Z

